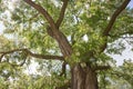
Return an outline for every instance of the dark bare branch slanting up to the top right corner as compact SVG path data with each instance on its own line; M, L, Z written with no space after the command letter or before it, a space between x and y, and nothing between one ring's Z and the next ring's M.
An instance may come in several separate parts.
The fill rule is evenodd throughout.
M112 29L112 27L113 27L113 24L114 24L114 22L115 22L115 20L116 20L116 18L117 18L117 16L126 8L126 6L129 4L130 1L131 1L131 0L125 0L125 1L122 3L122 6L120 6L120 7L117 8L117 10L115 10L115 12L113 13L113 16L111 17L111 20L110 20L108 27L106 27L105 30L103 31L103 34L104 34L104 36L108 36L108 34L109 34L109 32L111 31L111 29Z

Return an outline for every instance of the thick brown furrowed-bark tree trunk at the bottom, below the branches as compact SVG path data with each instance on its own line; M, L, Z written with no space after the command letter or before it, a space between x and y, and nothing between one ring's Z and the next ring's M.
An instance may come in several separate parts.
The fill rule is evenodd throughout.
M95 71L91 67L76 65L71 70L71 89L99 89Z

